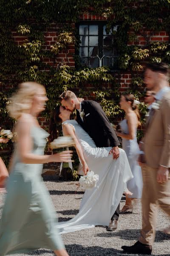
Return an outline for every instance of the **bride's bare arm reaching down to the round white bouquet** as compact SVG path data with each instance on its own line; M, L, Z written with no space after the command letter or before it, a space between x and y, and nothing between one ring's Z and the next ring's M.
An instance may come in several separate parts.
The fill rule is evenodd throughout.
M75 143L75 148L76 148L76 151L77 151L77 154L78 154L78 157L82 163L82 170L83 172L86 173L88 172L88 165L87 163L85 162L85 158L83 156L83 152L82 152L82 148L79 144L79 141L77 140L76 138L76 135L74 133L74 129L73 129L73 126L72 125L69 125L69 124L64 124L62 125L62 129L63 129L63 133L67 136L67 135L70 135L73 140L74 140L74 143Z

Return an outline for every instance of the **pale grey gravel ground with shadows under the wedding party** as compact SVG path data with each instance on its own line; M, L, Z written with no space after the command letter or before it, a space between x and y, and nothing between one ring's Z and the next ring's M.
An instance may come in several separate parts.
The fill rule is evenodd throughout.
M76 191L75 182L45 181L51 194L59 221L67 221L78 213L83 191ZM4 195L0 194L0 204L3 205ZM121 208L125 204L122 197ZM101 205L102 207L102 205ZM2 212L2 207L0 214ZM170 219L161 210L158 212L156 241L153 246L153 255L170 255L170 236L161 230L169 226ZM108 256L128 255L123 253L122 245L132 245L139 237L142 225L141 203L138 200L133 214L122 214L119 217L118 229L114 232L106 231L105 227L95 227L74 233L63 234L62 239L70 256ZM41 255L54 256L51 250L39 249L29 254L15 254L16 256Z

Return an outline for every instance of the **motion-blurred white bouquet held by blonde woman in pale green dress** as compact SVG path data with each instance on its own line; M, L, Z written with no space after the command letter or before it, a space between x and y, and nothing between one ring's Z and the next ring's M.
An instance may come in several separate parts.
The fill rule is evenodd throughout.
M55 139L53 142L50 143L50 147L54 148L65 148L65 147L72 147L75 145L75 142L71 136L62 136Z

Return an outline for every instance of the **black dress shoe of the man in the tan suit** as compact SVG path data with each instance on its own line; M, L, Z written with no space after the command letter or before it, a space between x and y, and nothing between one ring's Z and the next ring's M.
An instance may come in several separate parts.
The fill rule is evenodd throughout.
M122 249L127 253L139 253L139 254L151 254L152 246L148 244L142 244L137 241L132 246L122 246Z

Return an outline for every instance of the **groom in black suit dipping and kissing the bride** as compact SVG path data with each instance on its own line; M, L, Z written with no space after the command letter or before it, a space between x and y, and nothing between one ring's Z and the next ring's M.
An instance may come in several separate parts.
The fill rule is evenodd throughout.
M62 105L70 110L77 111L77 122L82 128L88 132L90 137L94 140L97 147L112 147L109 154L113 154L113 159L119 157L119 140L115 131L102 110L99 103L92 100L85 100L79 102L79 99L70 90L63 92L60 95ZM113 214L108 226L108 231L116 230L119 218L119 206Z

